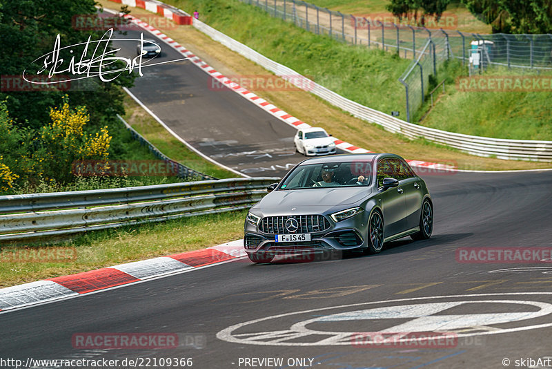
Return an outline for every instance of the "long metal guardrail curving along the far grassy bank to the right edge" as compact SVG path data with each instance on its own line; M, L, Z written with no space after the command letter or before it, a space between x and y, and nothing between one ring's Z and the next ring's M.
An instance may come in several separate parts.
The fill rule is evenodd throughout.
M536 160L536 161L552 161L552 141L533 141L533 140L509 140L500 138L486 138L473 135L464 135L462 133L453 133L441 131L439 129L431 129L417 124L404 122L396 117L376 111L373 108L368 108L357 102L348 100L333 91L328 90L324 86L311 81L306 77L299 77L299 73L295 70L283 66L257 51L241 44L240 42L224 35L224 33L215 30L207 24L193 19L193 25L197 30L204 32L215 41L219 41L224 46L234 50L259 64L263 68L270 70L279 77L288 80L295 86L302 88L309 86L309 92L321 97L326 102L341 108L347 113L351 113L355 117L380 124L387 131L393 133L401 133L408 138L425 138L426 140L454 147L461 151L479 156L495 156L499 159L506 160Z

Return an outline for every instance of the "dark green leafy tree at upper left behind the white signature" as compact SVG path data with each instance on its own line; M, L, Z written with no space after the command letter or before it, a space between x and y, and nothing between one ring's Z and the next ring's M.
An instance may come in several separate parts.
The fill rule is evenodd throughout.
M19 78L32 61L52 51L58 34L62 46L82 43L88 36L99 39L103 31L78 29L72 23L73 17L96 13L94 0L0 0L2 78ZM66 49L61 50L60 57L69 60L72 55ZM74 106L86 106L90 123L99 126L106 118L124 112L124 95L117 86L130 87L133 79L132 75L121 75L113 82L98 80L95 91L2 91L0 100L10 97L7 104L15 124L37 129L48 121L50 107L61 104L67 94Z

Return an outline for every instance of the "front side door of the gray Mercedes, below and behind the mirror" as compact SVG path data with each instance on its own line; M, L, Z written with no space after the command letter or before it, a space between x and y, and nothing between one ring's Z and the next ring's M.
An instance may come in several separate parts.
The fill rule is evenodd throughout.
M388 159L382 159L377 162L377 187L380 191L380 206L384 216L385 232L384 237L393 236L406 229L406 205L402 188L391 187L383 190L384 178L395 178L397 175L393 172L391 163Z

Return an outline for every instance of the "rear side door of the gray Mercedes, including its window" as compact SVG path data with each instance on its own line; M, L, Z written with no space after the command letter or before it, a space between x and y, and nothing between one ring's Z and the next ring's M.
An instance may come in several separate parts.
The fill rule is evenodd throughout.
M420 225L420 208L422 206L422 186L420 178L415 176L408 164L400 159L390 159L393 171L400 180L399 186L403 189L406 207L406 229L412 229Z

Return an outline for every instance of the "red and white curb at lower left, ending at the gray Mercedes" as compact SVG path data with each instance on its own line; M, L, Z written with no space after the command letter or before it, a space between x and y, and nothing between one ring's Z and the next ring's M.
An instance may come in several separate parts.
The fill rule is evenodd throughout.
M207 249L6 287L0 290L0 312L68 299L170 274L190 272L193 269L227 263L244 256L244 240L235 240Z

